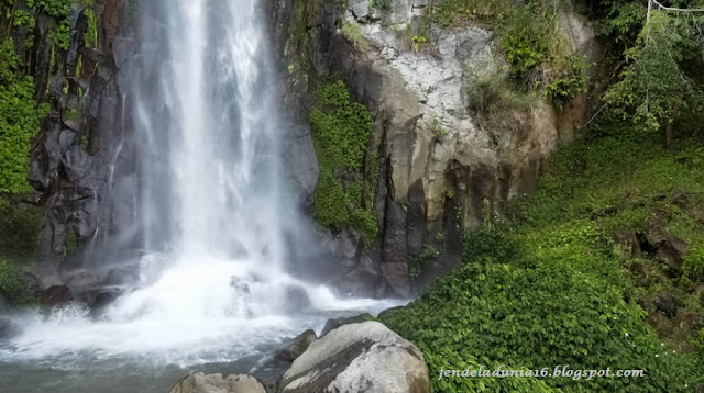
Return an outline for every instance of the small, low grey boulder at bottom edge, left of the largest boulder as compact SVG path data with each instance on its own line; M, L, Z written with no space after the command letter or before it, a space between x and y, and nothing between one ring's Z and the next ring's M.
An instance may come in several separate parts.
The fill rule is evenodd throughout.
M266 393L264 385L251 375L190 374L178 381L169 393Z

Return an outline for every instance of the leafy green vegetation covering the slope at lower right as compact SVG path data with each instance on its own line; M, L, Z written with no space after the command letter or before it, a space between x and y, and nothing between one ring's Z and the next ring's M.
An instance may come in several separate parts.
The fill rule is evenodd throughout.
M695 346L701 333L679 340L661 332L661 344L639 305L667 291L694 299L678 313L701 313L694 291L704 282L697 276L704 223L688 213L704 206L701 143L682 141L669 151L647 138L593 135L556 154L537 192L514 201L507 221L465 235L455 273L384 318L421 348L433 392L689 392L685 385L702 381L704 353L688 344ZM678 207L682 194L686 209ZM661 211L672 212L673 235L695 244L684 262L691 282L644 276L635 266L664 262L625 256L613 240L625 231L645 233ZM424 259L411 258L411 271ZM470 364L644 369L646 378L437 380L441 367Z

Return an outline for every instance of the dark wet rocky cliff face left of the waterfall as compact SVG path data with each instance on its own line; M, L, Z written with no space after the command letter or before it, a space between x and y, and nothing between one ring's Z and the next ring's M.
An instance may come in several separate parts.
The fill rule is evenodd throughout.
M124 191L124 182L135 157L123 115L125 80L118 71L132 42L136 3L96 0L72 3L68 11L21 0L14 7L35 15L34 30L18 30L14 44L34 77L37 100L50 104L29 175L44 210L38 276L48 287L59 281L62 263L96 266L111 254L105 247L116 236L134 228L125 212L134 211L135 190ZM59 34L65 43L57 43Z

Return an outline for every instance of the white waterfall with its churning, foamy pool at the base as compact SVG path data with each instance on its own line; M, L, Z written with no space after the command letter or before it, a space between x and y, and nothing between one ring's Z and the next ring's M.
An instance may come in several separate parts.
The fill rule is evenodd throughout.
M16 316L0 391L158 392L187 370L264 372L272 348L340 301L286 271L282 156L255 0L148 2L131 100L140 135L141 280L100 316ZM298 245L306 247L306 245ZM258 370L258 371L257 371Z

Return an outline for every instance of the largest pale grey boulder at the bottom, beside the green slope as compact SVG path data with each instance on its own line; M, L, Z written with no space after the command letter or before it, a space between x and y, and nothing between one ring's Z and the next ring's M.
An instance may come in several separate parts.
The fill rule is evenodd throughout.
M312 343L279 386L282 393L430 392L420 350L377 322L344 325Z

